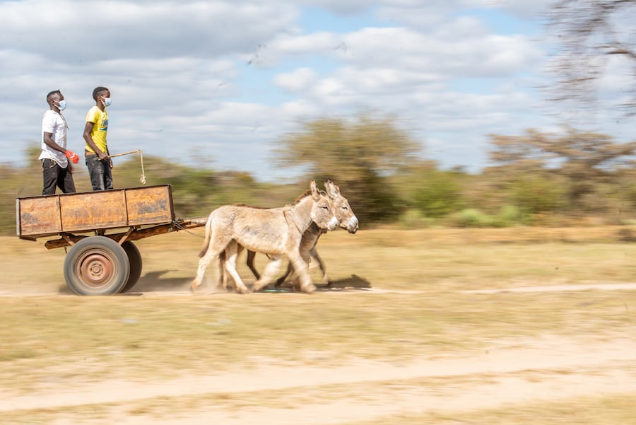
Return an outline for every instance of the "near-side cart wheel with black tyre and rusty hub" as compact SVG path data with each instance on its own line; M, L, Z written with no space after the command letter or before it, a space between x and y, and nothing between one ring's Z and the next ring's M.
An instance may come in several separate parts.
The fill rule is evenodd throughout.
M77 295L112 295L130 274L124 248L105 236L90 236L73 245L64 260L64 279Z

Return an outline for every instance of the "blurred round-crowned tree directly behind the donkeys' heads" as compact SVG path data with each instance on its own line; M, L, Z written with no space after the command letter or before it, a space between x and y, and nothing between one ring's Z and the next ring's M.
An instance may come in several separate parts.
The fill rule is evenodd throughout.
M302 124L299 132L281 139L276 159L286 167L304 166L316 180L331 177L360 219L382 221L401 212L387 177L405 170L418 151L393 118L361 115Z

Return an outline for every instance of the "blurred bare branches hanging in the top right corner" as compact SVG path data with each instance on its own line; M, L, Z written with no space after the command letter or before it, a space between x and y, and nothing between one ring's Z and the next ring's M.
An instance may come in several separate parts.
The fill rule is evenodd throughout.
M553 71L558 82L553 100L593 105L597 84L611 58L620 57L636 70L636 0L558 0L548 11L548 29L556 37ZM632 73L633 74L633 73ZM623 107L636 113L636 79Z

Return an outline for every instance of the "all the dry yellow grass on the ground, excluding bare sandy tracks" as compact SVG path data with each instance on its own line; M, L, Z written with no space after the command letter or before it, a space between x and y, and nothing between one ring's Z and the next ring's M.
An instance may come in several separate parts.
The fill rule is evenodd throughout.
M636 319L630 291L462 292L632 282L636 244L625 240L631 231L625 227L377 229L356 235L338 231L322 238L320 253L336 283L355 274L361 287L311 296L211 294L210 283L191 296L187 286L201 248L199 229L139 241L144 266L136 289L144 296L71 296L62 277L63 250L47 251L40 242L1 238L0 293L13 295L0 297L0 392L20 395L52 383L64 387L105 378L143 382L148 377L244 370L271 359L290 366L335 366L346 359L435 358L493 341L531 341L545 334L594 340L632 334ZM252 280L247 268L241 273L246 281ZM373 289L393 292L368 291L365 282ZM342 391L353 395L363 388L338 388ZM334 388L317 388L288 394L284 400L293 405L302 403L303 397L328 397L334 392ZM245 399L233 397L188 397L186 405L245 407ZM274 397L249 398L256 404L276 404L280 399ZM160 415L168 408L178 413L183 402L178 397L149 400L118 409ZM563 417L559 423L623 424L625 409L631 409L630 400L621 397L584 400L593 407L590 412L575 409L582 402L450 416L440 412L381 422L529 424ZM110 407L83 406L64 412L79 418L87 409L99 417ZM11 415L12 423L45 424L59 419L61 412ZM380 421L357 424L376 423Z

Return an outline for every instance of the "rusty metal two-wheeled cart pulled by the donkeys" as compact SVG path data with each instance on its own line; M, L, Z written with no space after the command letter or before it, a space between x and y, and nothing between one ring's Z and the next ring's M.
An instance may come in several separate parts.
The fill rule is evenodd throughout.
M129 291L141 276L134 240L205 223L205 217L175 219L170 185L16 199L20 239L57 236L45 243L47 249L71 247L64 279L78 295Z

